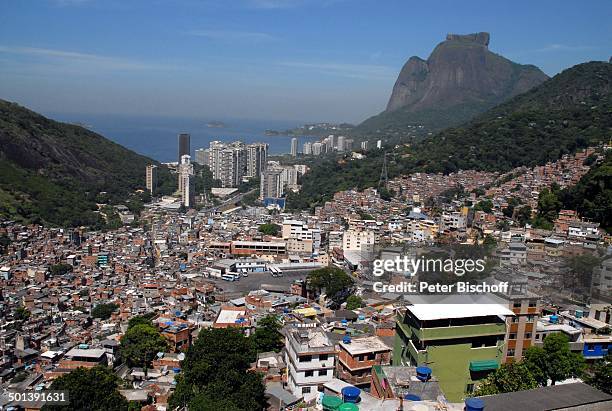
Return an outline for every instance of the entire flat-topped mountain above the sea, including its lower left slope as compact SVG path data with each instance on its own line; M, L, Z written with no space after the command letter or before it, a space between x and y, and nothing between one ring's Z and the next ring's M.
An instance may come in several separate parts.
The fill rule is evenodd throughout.
M449 34L427 60L402 68L385 111L364 121L359 134L405 134L410 126L440 130L524 93L548 76L489 50L489 33Z

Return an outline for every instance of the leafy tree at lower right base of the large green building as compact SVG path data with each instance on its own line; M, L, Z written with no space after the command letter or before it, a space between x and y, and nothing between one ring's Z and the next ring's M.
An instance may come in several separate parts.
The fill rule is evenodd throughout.
M500 368L482 381L474 396L494 395L504 392L531 390L538 387L538 382L524 363L502 364Z

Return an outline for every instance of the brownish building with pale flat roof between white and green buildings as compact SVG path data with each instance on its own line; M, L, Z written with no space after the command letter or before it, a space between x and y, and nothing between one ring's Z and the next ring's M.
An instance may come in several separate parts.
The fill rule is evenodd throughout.
M345 338L338 346L338 378L355 386L369 386L372 366L391 362L391 347L377 336Z

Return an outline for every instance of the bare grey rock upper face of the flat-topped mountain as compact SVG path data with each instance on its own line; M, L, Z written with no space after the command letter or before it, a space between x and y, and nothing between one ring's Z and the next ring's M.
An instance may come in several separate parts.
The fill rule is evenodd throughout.
M449 34L427 61L410 57L395 82L387 111L498 103L548 78L534 66L492 53L488 45L489 33Z

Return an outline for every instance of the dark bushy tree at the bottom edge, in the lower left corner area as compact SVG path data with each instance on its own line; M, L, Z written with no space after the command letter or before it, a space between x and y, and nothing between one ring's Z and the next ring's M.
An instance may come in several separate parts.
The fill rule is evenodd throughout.
M45 405L43 411L127 410L128 402L119 393L119 378L107 367L77 368L51 384L51 390L66 390L69 405Z

